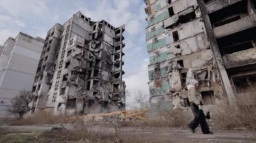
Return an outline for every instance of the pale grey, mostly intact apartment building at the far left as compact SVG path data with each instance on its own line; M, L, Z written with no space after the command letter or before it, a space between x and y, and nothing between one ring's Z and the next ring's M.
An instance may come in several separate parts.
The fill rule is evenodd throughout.
M6 109L20 91L30 91L44 40L20 33L8 38L0 58L0 118L9 117Z

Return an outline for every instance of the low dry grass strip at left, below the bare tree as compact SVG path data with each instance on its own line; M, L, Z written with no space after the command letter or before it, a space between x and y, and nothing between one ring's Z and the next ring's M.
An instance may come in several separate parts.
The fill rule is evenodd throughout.
M42 125L42 124L63 124L66 123L65 116L52 115L50 113L35 114L23 119L12 120L9 122L11 126L26 126L26 125Z

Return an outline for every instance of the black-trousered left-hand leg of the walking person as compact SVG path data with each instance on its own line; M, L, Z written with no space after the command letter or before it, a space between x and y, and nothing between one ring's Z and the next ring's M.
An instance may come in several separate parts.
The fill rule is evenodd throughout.
M199 116L199 109L198 106L195 103L191 103L191 110L194 113L194 120L192 122L189 123L189 128L191 128L192 130L195 130L195 128L197 128L197 126L200 124L200 116Z

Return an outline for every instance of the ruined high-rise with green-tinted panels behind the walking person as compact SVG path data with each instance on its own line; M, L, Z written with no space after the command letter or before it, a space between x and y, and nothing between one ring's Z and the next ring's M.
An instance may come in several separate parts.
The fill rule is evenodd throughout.
M206 107L253 95L249 87L256 83L256 1L145 3L153 110L187 106L185 87L191 71Z

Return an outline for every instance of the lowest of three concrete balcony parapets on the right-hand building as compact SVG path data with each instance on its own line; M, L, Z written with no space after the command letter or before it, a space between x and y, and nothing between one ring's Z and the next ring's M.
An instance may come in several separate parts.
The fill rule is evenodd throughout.
M224 64L226 68L234 68L238 66L244 66L247 64L256 63L256 48L250 48L232 54L226 54L223 56Z

